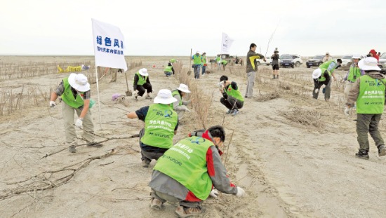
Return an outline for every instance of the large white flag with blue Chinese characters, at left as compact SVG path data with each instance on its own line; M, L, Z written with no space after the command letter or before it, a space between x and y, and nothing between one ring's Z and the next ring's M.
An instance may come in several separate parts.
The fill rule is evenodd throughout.
M127 70L124 56L124 34L121 29L105 22L93 22L95 65Z

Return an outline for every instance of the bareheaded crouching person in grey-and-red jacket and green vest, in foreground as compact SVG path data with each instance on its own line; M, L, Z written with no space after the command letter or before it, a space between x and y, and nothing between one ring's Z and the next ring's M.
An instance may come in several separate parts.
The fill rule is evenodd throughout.
M218 191L243 197L244 189L230 181L222 165L218 148L224 142L224 128L215 125L190 133L168 149L153 169L150 207L160 210L166 201L179 203L175 214L190 217L204 213L201 202L217 198Z

